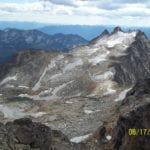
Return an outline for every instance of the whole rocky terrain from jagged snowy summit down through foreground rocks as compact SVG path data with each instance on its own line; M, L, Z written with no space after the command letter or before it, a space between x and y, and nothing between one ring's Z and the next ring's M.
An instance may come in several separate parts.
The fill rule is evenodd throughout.
M120 27L69 53L15 54L0 66L2 149L148 150L128 129L149 127L149 58L145 34Z

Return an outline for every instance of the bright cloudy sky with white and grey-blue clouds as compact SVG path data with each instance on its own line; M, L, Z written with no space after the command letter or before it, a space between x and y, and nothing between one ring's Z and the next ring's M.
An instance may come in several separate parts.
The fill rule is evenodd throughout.
M150 0L0 0L0 20L150 26Z

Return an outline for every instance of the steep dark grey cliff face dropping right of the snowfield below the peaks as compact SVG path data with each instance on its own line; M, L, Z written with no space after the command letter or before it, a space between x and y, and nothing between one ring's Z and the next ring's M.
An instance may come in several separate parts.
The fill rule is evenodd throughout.
M126 55L117 58L114 63L116 74L115 80L122 85L132 85L139 79L150 76L150 47L146 36L141 31L135 41L126 50ZM114 58L116 59L116 58Z

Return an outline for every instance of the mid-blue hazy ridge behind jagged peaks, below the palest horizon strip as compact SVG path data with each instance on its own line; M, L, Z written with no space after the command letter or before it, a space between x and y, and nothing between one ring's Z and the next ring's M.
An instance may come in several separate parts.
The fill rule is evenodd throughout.
M112 32L114 26L50 25L42 27L39 30L47 34L56 34L58 32L64 34L78 34L87 40L92 40L101 34L105 29L107 29L109 32ZM126 32L129 30L141 30L147 35L147 37L150 37L150 28L148 27L122 27L122 29Z

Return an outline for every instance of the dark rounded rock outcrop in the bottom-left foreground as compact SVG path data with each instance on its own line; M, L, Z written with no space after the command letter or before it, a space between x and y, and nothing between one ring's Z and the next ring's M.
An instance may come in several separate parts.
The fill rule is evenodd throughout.
M23 118L0 125L0 149L6 150L68 150L71 143L61 132Z

